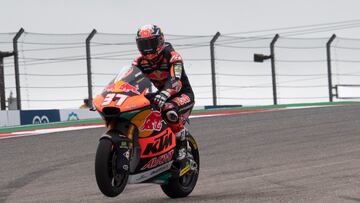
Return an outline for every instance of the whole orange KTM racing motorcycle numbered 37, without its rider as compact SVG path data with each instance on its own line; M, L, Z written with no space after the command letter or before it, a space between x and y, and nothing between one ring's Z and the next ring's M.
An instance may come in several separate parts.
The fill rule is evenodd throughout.
M179 198L196 185L198 145L186 130L189 161L179 164L176 135L153 104L152 88L140 69L127 67L93 100L107 127L96 151L95 176L108 197L119 195L127 184L155 183L170 198Z

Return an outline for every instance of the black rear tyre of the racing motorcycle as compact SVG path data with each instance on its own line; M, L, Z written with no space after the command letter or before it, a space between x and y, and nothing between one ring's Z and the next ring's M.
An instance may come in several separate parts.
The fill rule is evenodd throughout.
M181 198L188 196L195 188L200 171L200 156L195 139L188 135L187 141L191 148L191 154L197 164L196 172L189 172L178 178L170 178L167 184L161 185L162 191L170 198Z

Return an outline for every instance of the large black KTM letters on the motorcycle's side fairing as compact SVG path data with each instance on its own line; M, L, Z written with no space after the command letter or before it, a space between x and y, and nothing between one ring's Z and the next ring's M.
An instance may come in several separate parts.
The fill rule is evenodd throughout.
M168 133L168 130L161 135L154 139L153 142L150 142L146 145L145 150L143 152L143 156L147 155L157 155L161 154L165 151L168 151L173 146L175 146L175 136L173 133Z

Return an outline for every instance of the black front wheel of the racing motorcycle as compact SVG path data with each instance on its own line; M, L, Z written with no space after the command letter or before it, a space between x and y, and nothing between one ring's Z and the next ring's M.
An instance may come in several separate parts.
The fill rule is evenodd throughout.
M128 174L119 174L116 171L114 145L109 139L101 139L96 151L95 176L100 191L108 196L115 197L125 188Z

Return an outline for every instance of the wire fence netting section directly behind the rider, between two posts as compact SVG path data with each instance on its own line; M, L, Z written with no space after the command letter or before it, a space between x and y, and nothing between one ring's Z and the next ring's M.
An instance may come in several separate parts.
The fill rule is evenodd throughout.
M196 105L211 105L209 42L212 36L166 35L184 61L185 71L196 95ZM98 33L91 40L94 94L101 92L121 68L139 56L134 35Z

